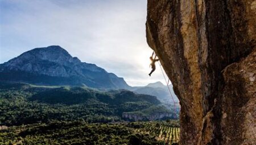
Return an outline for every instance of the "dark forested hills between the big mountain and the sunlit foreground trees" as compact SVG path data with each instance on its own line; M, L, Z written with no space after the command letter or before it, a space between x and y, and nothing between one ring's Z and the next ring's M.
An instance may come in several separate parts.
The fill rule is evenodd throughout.
M118 122L123 121L123 112L142 110L142 115L148 115L159 108L168 111L156 97L127 90L0 84L0 125L6 126L79 119L87 123Z

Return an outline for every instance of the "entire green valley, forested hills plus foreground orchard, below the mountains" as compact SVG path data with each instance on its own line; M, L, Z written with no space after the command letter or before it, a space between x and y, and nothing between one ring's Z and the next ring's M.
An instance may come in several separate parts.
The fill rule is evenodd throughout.
M124 122L171 114L154 96L127 90L0 84L0 144L174 144L176 121ZM176 115L171 115L170 118ZM166 119L166 118L165 118Z

